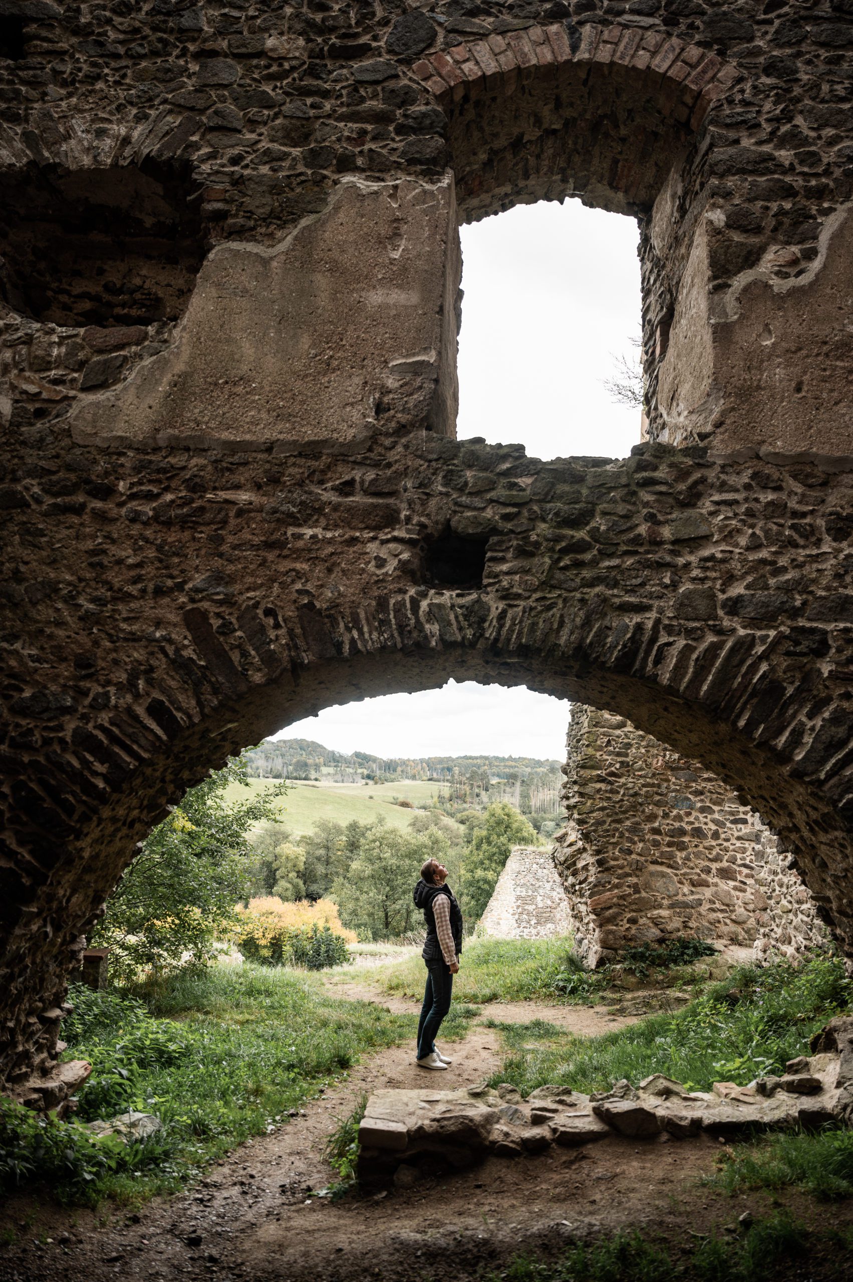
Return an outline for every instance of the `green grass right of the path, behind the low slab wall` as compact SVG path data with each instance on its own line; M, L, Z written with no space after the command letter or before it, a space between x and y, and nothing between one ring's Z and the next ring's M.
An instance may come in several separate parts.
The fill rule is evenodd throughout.
M727 997L732 988L740 994L735 1003ZM505 1032L508 1055L493 1082L512 1082L522 1095L549 1083L600 1091L650 1073L666 1073L690 1090L708 1090L714 1081L745 1085L807 1054L809 1036L847 1008L852 991L843 960L830 955L799 968L743 967L677 1013L600 1037L555 1033L518 1049L518 1035Z

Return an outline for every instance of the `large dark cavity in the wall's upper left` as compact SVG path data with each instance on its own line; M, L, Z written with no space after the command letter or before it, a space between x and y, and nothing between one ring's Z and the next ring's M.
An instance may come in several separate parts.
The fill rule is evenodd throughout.
M204 256L189 174L30 165L0 196L0 294L60 326L150 324L186 308Z

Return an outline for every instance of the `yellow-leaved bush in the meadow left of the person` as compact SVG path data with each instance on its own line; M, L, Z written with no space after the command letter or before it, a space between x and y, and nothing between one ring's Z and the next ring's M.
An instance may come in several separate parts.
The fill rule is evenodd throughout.
M317 904L282 904L274 895L237 906L237 942L251 962L266 965L301 965L322 970L349 962L346 936L337 909L328 900ZM322 923L322 924L321 924ZM331 923L331 924L330 924Z

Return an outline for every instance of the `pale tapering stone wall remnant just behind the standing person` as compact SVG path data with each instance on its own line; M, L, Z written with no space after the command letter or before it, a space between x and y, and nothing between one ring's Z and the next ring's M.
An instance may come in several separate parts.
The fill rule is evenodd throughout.
M566 890L550 846L514 846L480 929L496 940L549 940L572 929Z

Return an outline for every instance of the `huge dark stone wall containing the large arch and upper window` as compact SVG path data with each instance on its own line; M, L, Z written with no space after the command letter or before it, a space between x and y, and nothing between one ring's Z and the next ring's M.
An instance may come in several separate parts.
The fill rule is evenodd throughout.
M853 955L852 47L847 0L0 5L0 1081L187 786L448 677L702 762ZM567 195L640 228L623 462L454 440L458 223Z

